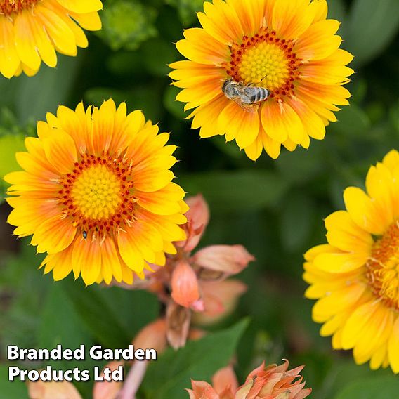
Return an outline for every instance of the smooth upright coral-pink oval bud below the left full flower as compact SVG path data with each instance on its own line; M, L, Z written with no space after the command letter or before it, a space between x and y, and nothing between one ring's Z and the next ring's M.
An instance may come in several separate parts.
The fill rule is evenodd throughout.
M176 303L190 308L199 299L198 280L187 261L178 261L171 278L171 296Z

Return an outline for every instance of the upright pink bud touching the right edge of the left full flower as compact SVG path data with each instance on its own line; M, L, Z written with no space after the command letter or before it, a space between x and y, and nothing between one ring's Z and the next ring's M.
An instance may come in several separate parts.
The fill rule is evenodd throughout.
M201 240L202 233L209 223L209 208L202 195L195 195L185 200L190 209L185 216L187 223L184 228L187 233L185 241L178 242L178 247L183 247L185 251L190 252L197 247L199 240Z

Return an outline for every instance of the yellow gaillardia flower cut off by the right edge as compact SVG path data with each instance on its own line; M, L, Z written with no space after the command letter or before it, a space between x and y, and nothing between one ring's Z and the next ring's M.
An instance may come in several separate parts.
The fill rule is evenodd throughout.
M346 211L325 219L328 244L305 254L313 320L358 364L399 373L399 153L372 166L366 192L344 191Z

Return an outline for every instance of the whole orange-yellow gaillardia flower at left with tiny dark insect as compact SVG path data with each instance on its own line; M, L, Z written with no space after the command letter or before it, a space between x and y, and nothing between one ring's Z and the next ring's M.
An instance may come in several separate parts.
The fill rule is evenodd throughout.
M164 265L165 252L176 253L171 242L185 239L178 225L188 207L172 182L169 133L112 100L86 111L82 103L58 107L37 133L16 155L25 171L4 179L12 184L8 223L47 253L44 273L131 284L133 272L144 277L148 263Z

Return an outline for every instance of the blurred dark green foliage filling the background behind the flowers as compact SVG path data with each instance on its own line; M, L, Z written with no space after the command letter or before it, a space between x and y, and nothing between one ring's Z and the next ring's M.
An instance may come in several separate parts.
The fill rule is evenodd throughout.
M159 121L162 131L172 131L181 160L174 168L176 181L208 200L211 222L200 245L244 244L256 256L240 276L249 290L236 312L192 344L193 353L191 346L166 352L150 367L139 398L155 397L152 383L168 384L169 367L181 371L173 376L173 386L190 386L182 369L186 363L198 366L190 368L190 377L209 378L219 366L215 353L227 361L234 348L240 381L263 359L289 358L292 365L306 365L303 374L314 398L395 398L398 382L391 371L357 366L351 353L332 352L330 339L319 336L320 326L310 318L312 302L303 299L301 265L303 252L325 241L322 219L343 207L344 188L362 187L369 165L398 148L399 1L329 0L329 16L342 22L343 46L355 55L351 105L338 113L339 122L327 128L325 140L313 140L309 150L283 151L277 161L263 154L256 163L224 138L199 140L184 119L183 105L174 100L178 89L170 86L167 65L181 59L174 43L183 37L183 26L197 26L195 12L201 6L202 0L105 0L104 29L90 35L89 48L77 58L60 56L56 69L43 66L33 78L0 78L0 174L18 167L13 152L22 150L23 136L34 135L36 121L58 104L126 100L129 110L139 108ZM5 221L6 204L1 211ZM29 240L11 250L15 239L6 223L1 237L1 399L26 397L23 384L8 384L3 377L6 344L123 347L159 313L151 294L85 288L72 279L54 283L37 270L41 256ZM234 325L247 315L251 322L237 345L242 327ZM84 398L91 398L91 384L77 385ZM171 398L162 389L162 397ZM174 391L173 398L187 394Z

